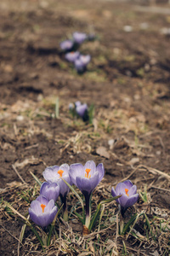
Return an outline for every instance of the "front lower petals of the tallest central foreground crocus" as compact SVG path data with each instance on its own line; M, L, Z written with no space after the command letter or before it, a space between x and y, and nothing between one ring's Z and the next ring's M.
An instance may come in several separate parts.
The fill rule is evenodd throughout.
M83 192L90 194L99 184L99 172L95 172L93 177L77 177L77 187Z

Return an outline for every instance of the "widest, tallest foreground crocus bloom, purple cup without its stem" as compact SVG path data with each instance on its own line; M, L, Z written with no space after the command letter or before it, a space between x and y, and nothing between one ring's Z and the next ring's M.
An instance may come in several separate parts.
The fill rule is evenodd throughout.
M96 167L93 160L86 162L85 166L82 166L82 164L73 164L70 166L71 182L82 191L82 194L90 195L100 183L104 174L103 164L99 164Z

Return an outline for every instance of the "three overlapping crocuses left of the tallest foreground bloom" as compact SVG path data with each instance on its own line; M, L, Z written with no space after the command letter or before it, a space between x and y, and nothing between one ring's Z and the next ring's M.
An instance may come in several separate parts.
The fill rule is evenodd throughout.
M71 184L69 169L67 164L50 166L42 173L47 182L42 183L40 195L31 202L29 208L30 218L35 224L45 227L52 223L58 212L54 203L59 196L63 203L64 217L67 218L66 195L70 189L60 177L64 177Z

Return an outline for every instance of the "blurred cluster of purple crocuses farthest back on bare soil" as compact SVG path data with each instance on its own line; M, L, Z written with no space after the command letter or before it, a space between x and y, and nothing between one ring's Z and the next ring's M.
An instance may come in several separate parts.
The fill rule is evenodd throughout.
M74 64L77 73L84 73L91 60L90 55L82 55L77 49L86 41L91 40L92 35L82 32L74 32L71 40L65 40L60 43L60 48L65 51L65 60Z

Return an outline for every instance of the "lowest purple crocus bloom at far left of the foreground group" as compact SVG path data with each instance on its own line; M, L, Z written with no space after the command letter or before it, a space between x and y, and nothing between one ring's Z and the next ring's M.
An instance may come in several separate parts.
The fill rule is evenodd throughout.
M53 199L48 201L43 195L39 195L35 201L31 202L31 207L28 211L31 220L35 224L46 227L52 223L58 209L54 206Z

